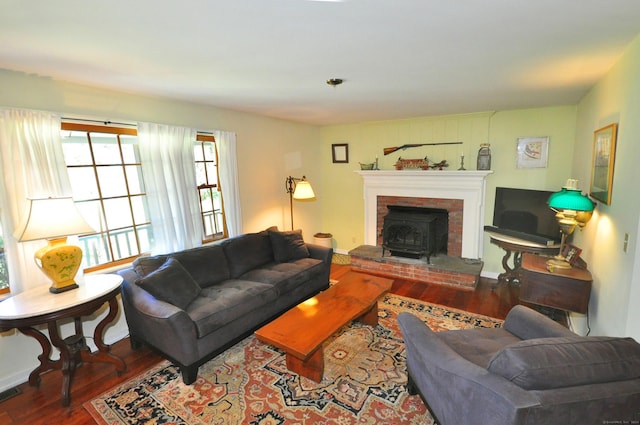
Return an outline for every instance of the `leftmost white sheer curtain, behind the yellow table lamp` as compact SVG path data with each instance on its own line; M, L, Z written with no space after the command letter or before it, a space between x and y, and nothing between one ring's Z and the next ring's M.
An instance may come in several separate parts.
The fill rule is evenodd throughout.
M43 241L18 243L13 232L22 221L27 198L70 196L62 152L60 117L48 112L0 110L0 206L12 293L49 285L34 264Z

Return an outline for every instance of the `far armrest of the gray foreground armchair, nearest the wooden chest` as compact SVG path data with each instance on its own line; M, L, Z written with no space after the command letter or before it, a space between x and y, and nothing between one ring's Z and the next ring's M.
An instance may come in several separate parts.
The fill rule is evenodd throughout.
M504 328L520 339L576 336L560 323L523 305L511 309L505 318Z

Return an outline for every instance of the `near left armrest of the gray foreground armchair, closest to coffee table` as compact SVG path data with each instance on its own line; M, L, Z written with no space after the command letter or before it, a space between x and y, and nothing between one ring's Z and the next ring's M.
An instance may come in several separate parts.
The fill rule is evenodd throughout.
M414 384L441 423L517 423L535 395L466 360L410 313L398 323ZM460 408L464 406L464 408Z

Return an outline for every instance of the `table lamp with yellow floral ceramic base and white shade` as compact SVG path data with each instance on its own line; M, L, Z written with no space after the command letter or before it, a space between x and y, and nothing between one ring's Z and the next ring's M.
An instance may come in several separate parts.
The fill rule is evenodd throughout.
M49 291L57 294L77 288L76 273L82 264L82 250L67 245L67 236L95 233L80 215L73 199L29 199L29 207L14 236L19 242L47 239L47 246L36 251L34 259L51 279Z

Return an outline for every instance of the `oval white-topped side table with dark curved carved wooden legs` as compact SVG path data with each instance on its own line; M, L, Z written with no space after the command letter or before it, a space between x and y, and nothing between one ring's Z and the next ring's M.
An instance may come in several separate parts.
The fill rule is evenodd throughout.
M60 294L52 294L43 285L22 292L0 302L0 331L18 329L24 335L35 338L42 347L38 356L40 365L29 375L29 385L40 385L40 375L50 370L62 370L62 405L71 402L71 380L76 367L82 362L107 362L116 367L118 374L126 370L124 361L109 352L103 336L106 326L118 314L116 296L120 293L122 277L115 274L86 275L79 288ZM109 303L109 313L98 323L93 333L93 341L98 351L91 353L82 331L82 317L96 312ZM62 338L58 322L72 318L75 334ZM49 338L36 329L46 325ZM60 358L51 360L52 345L60 350Z

